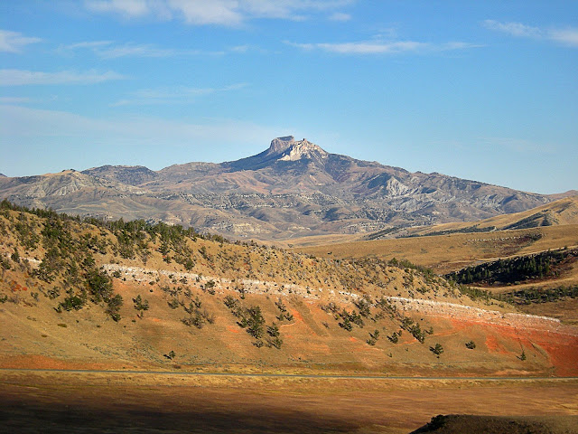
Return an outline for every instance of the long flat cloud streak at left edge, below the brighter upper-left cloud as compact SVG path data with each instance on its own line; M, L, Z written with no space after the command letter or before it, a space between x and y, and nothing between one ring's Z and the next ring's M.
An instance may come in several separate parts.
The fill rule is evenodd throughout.
M26 71L0 70L0 86L23 86L38 84L94 84L109 80L126 79L115 71Z

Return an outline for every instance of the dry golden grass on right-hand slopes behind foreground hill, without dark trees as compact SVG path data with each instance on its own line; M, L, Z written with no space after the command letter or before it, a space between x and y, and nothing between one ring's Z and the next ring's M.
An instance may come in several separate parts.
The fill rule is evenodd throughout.
M306 245L295 251L326 258L408 259L415 264L433 269L437 274L445 274L481 262L528 255L545 250L573 248L578 246L578 197L565 198L527 212L502 215L476 223L447 223L428 228L415 228L412 233L427 234L436 231L458 231L464 228L508 227L535 214L550 215L553 226L541 226L514 231L487 231L471 233L450 233L446 235L419 236L412 238L349 241L326 245ZM539 239L536 240L536 235ZM313 240L324 241L326 239ZM524 288L555 288L578 285L578 264L572 264L555 278L527 282L516 287L489 287L494 293L508 292ZM576 324L575 300L538 304L521 307L533 315L555 316L568 324Z

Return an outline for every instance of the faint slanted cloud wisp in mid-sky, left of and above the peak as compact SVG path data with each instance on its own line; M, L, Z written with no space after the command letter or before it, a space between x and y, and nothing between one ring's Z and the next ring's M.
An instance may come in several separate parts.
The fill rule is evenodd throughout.
M129 99L121 99L111 104L111 107L127 105L187 104L206 95L240 90L246 87L247 83L237 83L223 88L191 88L178 86L172 88L142 89L131 94Z

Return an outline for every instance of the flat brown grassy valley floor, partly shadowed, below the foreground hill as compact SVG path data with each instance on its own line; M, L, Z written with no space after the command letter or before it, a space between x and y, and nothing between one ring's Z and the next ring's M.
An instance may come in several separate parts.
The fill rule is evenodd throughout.
M578 432L578 379L0 370L3 432L393 434L437 414L541 416Z

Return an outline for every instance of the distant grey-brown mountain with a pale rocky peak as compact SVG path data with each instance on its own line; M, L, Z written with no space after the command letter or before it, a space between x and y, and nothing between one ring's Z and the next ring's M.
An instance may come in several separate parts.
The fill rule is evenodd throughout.
M469 222L521 212L567 194L525 193L438 173L331 154L278 137L256 156L159 171L104 165L0 177L0 198L102 218L192 225L232 238L286 240L390 227Z

